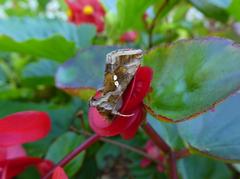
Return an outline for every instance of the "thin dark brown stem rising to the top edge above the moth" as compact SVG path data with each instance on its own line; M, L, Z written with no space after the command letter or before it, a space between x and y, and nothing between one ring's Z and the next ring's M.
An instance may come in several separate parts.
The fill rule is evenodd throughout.
M154 19L152 20L152 23L149 26L149 30L148 30L148 48L150 49L152 47L152 37L153 37L153 30L156 26L158 17L160 16L161 12L163 11L163 9L166 7L166 5L168 4L169 0L164 0L164 2L162 3L162 5L159 7Z

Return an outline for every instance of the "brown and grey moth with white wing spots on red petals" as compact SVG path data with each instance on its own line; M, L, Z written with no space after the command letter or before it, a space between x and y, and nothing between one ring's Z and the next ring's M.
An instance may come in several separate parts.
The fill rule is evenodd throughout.
M121 49L107 54L104 85L99 90L101 96L93 97L89 103L107 120L133 115L121 114L119 110L122 107L122 94L133 79L142 57L143 51L140 49Z

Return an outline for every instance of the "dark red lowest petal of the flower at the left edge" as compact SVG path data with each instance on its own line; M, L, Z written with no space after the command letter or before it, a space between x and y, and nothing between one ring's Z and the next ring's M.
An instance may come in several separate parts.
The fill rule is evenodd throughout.
M27 167L36 166L43 161L41 158L21 157L0 161L0 167L3 168L7 165L7 178L12 178L22 173Z

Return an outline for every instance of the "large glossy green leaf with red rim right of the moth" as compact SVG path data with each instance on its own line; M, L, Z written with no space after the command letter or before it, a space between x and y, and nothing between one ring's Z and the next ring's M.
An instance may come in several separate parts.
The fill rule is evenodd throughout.
M150 51L144 64L154 71L145 103L158 119L196 116L240 88L240 49L230 40L178 41Z

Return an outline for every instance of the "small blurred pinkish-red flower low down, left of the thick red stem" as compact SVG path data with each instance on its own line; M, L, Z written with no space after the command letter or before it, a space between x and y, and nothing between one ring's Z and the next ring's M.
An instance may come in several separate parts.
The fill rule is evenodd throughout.
M144 150L154 159L156 159L157 161L159 161L160 163L157 165L157 170L159 172L163 172L164 168L163 168L163 163L164 163L164 155L163 153L159 150L159 148L153 143L153 141L149 140L145 147ZM152 163L151 160L149 160L148 158L144 158L141 161L140 166L142 168L145 168L147 166L149 166Z

